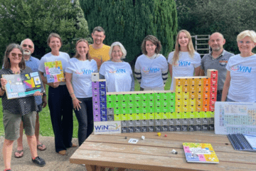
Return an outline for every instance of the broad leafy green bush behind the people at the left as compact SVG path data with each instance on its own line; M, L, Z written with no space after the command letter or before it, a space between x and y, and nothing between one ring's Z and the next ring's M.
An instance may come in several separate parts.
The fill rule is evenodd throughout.
M67 53L74 51L74 38L85 38L89 31L79 1L70 0L0 0L0 51L9 43L21 43L31 38L35 44L33 56L41 58L50 51L48 35L60 34ZM2 58L3 55L1 55ZM1 60L2 62L2 60Z

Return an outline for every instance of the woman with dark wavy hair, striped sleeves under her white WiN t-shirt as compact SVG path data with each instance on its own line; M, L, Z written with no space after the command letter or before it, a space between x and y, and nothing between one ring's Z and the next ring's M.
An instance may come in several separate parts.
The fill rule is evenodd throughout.
M160 54L161 42L152 35L142 42L142 55L135 63L135 77L140 83L140 90L164 90L168 78L166 58Z

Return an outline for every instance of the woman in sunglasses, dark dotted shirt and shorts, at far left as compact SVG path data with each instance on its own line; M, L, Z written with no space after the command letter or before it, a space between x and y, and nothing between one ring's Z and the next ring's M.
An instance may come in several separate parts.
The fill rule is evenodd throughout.
M10 44L4 53L4 67L0 70L0 95L3 105L3 122L4 122L4 145L3 157L5 170L11 170L11 151L14 140L19 138L19 128L21 120L27 136L28 145L31 150L32 161L39 166L46 165L46 162L38 157L36 149L36 110L38 110L34 96L24 98L7 99L6 96L6 79L2 75L31 73L32 70L26 67L23 58L23 50L18 44ZM39 91L34 95L41 95Z

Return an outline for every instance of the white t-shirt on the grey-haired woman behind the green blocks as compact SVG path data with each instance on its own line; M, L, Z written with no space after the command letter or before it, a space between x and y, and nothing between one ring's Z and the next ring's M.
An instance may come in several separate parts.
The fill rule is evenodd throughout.
M129 63L105 61L100 66L100 74L105 76L108 92L131 90L132 68Z

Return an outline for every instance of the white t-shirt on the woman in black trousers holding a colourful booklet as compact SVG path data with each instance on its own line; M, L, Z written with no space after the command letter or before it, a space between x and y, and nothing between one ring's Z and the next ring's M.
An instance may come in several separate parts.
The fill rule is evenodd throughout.
M54 56L52 53L46 53L46 55L44 55L40 60L38 71L46 73L46 68L44 66L45 62L61 61L63 66L63 72L65 73L65 68L68 65L69 60L70 56L68 55L68 53L65 52L60 52L59 56ZM60 85L65 85L65 82L60 82Z

